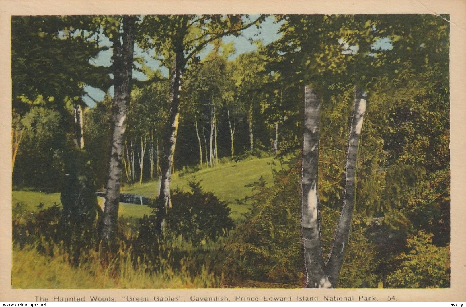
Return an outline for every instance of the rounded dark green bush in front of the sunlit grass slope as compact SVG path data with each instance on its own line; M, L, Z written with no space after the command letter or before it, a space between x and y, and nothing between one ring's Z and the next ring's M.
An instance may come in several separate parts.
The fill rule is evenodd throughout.
M205 192L199 181L188 183L190 192L173 191L173 207L168 210L167 230L194 243L215 240L233 228L227 203Z

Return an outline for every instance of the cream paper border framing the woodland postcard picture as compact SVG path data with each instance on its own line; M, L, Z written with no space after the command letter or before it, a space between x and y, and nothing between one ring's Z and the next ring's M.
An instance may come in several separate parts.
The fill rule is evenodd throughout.
M451 288L447 289L12 289L11 211L11 16L64 14L450 14L451 90ZM439 16L439 18L441 18ZM0 0L0 300L35 301L36 296L192 297L375 296L387 301L466 300L466 0Z

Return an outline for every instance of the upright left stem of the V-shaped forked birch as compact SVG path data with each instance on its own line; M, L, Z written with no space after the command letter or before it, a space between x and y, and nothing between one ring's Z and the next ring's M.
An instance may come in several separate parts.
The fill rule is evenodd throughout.
M322 258L319 228L317 174L319 164L319 126L321 98L309 86L304 89L304 141L302 150L302 240L308 288L329 288Z

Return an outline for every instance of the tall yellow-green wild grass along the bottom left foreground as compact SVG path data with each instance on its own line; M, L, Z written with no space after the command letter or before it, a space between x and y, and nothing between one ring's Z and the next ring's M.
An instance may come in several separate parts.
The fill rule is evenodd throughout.
M53 256L49 256L53 254ZM117 255L108 258L90 250L78 265L71 265L70 255L58 244L47 247L13 247L12 286L14 288L206 288L219 287L221 279L202 266L193 274L182 261L175 270L168 261L154 268L150 263L134 261L131 250L120 246Z

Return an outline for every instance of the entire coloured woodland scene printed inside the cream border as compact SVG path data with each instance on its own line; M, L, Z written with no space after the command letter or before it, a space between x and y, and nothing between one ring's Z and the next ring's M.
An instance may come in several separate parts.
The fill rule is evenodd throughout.
M449 287L448 19L13 16L13 287Z

